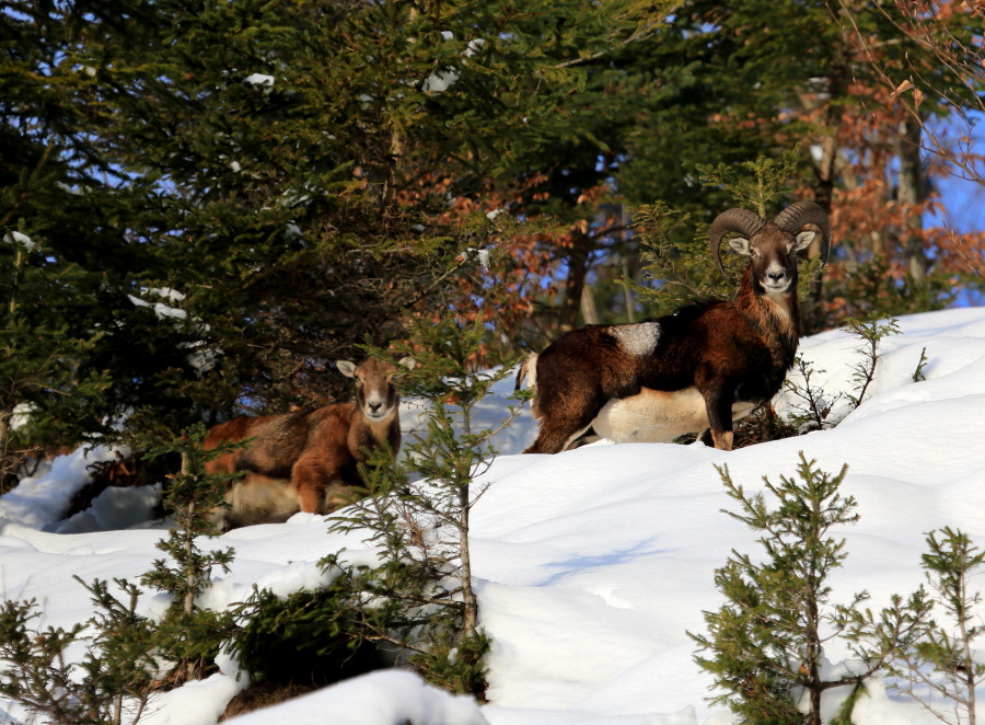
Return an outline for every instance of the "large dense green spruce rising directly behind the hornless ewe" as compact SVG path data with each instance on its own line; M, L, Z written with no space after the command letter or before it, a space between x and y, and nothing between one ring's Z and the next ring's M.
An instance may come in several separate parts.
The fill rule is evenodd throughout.
M96 148L132 179L129 238L153 255L136 286L181 291L198 325L159 325L162 346L212 355L153 371L142 396L171 401L152 416L341 395L327 360L482 277L470 250L497 237L476 199L526 185L530 156L591 116L580 61L652 16L625 0L93 8L71 62L92 71Z

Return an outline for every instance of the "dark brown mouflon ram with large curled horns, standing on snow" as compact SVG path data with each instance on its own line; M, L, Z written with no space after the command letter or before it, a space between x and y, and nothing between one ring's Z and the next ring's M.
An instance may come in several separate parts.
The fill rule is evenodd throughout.
M529 378L536 440L525 453L557 453L589 428L616 442L670 441L708 428L731 450L732 423L772 399L800 340L797 253L815 232L822 260L831 222L816 204L798 202L767 221L746 209L718 215L708 230L719 267L721 240L749 257L739 294L650 322L586 325L521 366Z

